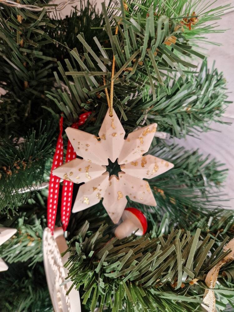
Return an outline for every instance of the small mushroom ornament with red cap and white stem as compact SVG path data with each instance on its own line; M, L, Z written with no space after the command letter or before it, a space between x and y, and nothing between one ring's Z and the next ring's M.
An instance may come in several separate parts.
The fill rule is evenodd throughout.
M144 235L147 231L147 219L144 214L133 207L125 208L122 214L123 222L115 229L115 236L119 239L127 237L135 232L137 236Z

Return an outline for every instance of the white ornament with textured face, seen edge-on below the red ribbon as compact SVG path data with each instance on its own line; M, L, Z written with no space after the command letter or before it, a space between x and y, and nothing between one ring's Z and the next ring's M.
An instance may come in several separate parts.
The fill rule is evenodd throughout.
M62 227L55 228L54 235L46 227L42 240L46 280L54 311L81 312L79 292L73 287L69 295L66 295L72 282L65 280L68 270L64 264L69 258L69 252L61 257L61 253L67 250Z

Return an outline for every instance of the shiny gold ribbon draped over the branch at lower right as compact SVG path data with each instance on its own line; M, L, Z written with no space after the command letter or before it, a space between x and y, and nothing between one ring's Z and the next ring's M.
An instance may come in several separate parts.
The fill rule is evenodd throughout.
M219 270L220 268L225 265L226 263L234 260L234 238L229 241L227 243L227 245L225 245L223 247L223 251L227 251L231 249L231 252L225 256L221 261L219 261L207 274L206 279L205 279L205 283L207 285L207 287L209 288L215 288L215 284L217 282L218 279L218 274L219 274ZM203 301L202 301L202 307L204 308L205 311L207 312L217 312L217 309L215 307L215 295L214 295L214 291L212 289L206 289L205 290L205 294L203 297Z

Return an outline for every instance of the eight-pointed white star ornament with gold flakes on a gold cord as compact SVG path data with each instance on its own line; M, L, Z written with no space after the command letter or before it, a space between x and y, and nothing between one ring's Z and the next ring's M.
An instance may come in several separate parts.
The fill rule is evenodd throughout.
M99 131L100 139L95 135L67 128L66 134L76 154L83 159L74 159L53 170L53 174L81 185L72 212L78 212L98 203L102 198L103 206L111 220L118 223L127 204L126 196L135 202L156 206L149 183L151 179L173 168L172 163L148 152L154 138L157 124L150 124L133 131L124 139L125 131L118 116L109 109ZM106 171L108 158L118 163L121 172L118 177Z

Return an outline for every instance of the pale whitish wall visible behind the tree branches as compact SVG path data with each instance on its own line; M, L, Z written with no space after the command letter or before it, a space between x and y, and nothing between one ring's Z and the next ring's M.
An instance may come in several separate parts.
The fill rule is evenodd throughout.
M101 8L101 2L104 0L96 0L97 8ZM60 3L61 0L53 0L51 3ZM79 2L75 2L72 6L79 6ZM204 0L206 5L210 3L209 0ZM234 0L217 0L212 7L218 7L231 3L234 4ZM70 14L71 5L68 5L63 11L60 11L61 17L65 17ZM224 12L222 19L217 21L219 29L226 30L224 33L209 34L207 35L207 41L215 41L221 44L206 45L207 49L205 53L208 58L209 67L212 66L213 61L216 61L216 67L219 71L222 71L224 77L227 80L227 92L229 93L230 101L234 101L234 8L230 8ZM203 51L204 52L204 51ZM234 104L231 104L223 118L223 121L234 121ZM186 147L186 149L197 149L204 155L211 154L217 160L222 163L226 163L226 168L229 169L227 182L224 188L221 189L222 193L227 193L226 198L230 198L230 202L224 202L226 207L234 208L234 124L231 126L222 125L218 123L211 124L211 128L216 131L203 133L199 139L188 137L185 140L178 140L180 145ZM232 198L233 197L233 198Z

